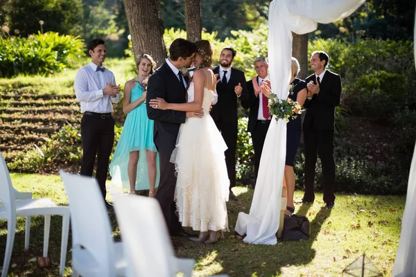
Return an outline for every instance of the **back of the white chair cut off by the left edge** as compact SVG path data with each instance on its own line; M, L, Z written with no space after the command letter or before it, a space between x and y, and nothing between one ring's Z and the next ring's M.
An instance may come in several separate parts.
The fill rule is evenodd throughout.
M16 218L15 193L12 187L12 180L4 160L3 154L0 153L0 201L6 208L6 217L8 220Z

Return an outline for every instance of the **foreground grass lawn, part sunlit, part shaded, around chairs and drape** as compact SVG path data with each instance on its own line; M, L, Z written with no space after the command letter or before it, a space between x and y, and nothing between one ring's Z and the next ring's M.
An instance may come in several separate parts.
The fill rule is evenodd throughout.
M12 174L12 182L20 191L32 191L33 197L49 197L56 204L67 204L64 187L58 175ZM349 263L365 253L385 276L390 276L399 243L401 216L406 197L377 195L336 195L336 206L324 209L316 195L313 205L297 205L297 215L311 221L311 239L281 242L275 246L245 244L234 235L239 212L250 210L253 190L234 188L238 202L229 202L229 229L225 240L216 244L196 244L185 238L173 238L177 256L194 258L194 276L229 274L229 276L340 276ZM295 198L302 197L296 192ZM120 239L114 213L110 213L114 237ZM6 247L7 224L0 223L0 261ZM43 217L33 217L31 244L24 251L24 220L17 222L10 276L58 276L61 217L51 220L49 269L40 269L32 258L42 256ZM69 238L69 249L71 237ZM65 274L70 276L71 252L67 255Z

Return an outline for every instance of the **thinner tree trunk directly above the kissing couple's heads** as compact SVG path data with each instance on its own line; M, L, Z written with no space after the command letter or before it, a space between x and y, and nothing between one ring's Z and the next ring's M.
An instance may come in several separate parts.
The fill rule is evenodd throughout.
M185 0L187 39L191 42L196 42L201 39L202 19L200 2L200 0Z

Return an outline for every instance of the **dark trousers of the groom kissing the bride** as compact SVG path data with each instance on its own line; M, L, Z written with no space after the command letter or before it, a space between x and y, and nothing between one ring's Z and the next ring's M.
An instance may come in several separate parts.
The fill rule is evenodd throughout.
M171 154L175 149L176 136L162 137L156 134L154 142L159 152L160 180L157 188L156 199L162 208L162 212L168 226L169 233L175 235L182 229L176 214L175 204L175 164L171 163Z

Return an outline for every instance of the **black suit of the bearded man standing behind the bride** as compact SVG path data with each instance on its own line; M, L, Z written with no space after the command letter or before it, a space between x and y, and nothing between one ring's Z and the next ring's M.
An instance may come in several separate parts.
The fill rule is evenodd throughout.
M218 73L219 66L214 68L214 73ZM227 71L227 74L229 70ZM218 76L219 78L219 76ZM216 91L218 93L218 102L211 109L211 117L217 128L220 130L227 150L225 151L225 163L227 163L227 172L229 178L229 188L236 186L236 144L238 131L237 118L237 96L234 92L234 87L241 84L243 91L241 91L241 100L248 98L247 87L245 84L245 77L243 71L238 69L231 69L229 81L227 84L218 82Z

